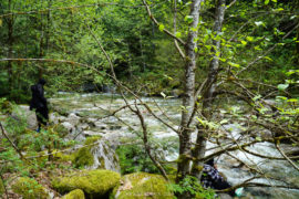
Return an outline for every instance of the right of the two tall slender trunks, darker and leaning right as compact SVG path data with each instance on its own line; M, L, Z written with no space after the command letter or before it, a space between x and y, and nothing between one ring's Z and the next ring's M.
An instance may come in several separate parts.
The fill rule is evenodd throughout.
M218 35L221 32L225 9L226 9L226 0L218 0L216 14L215 14L216 19L214 23L214 31L216 32L216 35ZM215 49L213 49L214 56L209 64L209 73L208 73L208 78L207 78L207 83L206 83L206 87L204 92L204 97L203 97L204 102L203 102L203 111L202 111L202 115L207 121L210 121L212 113L213 113L212 111L213 95L215 93L216 81L217 81L217 75L219 71L220 41L213 40L213 45L215 46ZM208 129L205 129L203 126L198 126L196 146L193 151L193 157L195 159L200 159L205 157L207 137L208 137ZM197 178L200 178L202 168L203 168L203 163L195 160L192 168L192 175Z

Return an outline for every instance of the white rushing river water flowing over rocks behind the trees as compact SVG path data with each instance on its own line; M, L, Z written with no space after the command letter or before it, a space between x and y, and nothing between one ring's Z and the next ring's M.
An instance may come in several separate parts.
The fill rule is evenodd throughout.
M167 121L167 123L177 129L181 118L181 101L177 98L155 98L143 97L154 111L154 113ZM141 140L141 125L136 115L122 108L120 112L111 115L114 111L125 106L124 101L112 94L71 94L60 93L50 100L51 105L65 116L52 114L52 119L62 123L72 132L70 138L83 140L86 136L101 135L112 142L114 148L117 145ZM133 98L128 98L130 103L134 103ZM154 118L145 108L141 107L145 117L146 125L150 130L151 142L153 145L161 146L156 150L165 160L174 161L178 157L178 136L169 127L163 125ZM68 115L68 116L66 116ZM243 130L239 124L226 124L223 130L229 132L228 136L237 139ZM193 139L195 140L195 135ZM216 145L208 143L207 148L214 148ZM287 146L286 146L287 147ZM259 143L248 147L252 153L264 156L281 157L279 151L270 143ZM99 149L99 151L101 151ZM215 149L208 150L210 154ZM237 157L254 169L259 170L268 176L279 178L281 180L299 186L299 172L295 170L289 163L285 160L267 160L241 150L229 153ZM228 155L221 155L217 159L218 169L223 172L231 185L237 185L246 179L255 177L250 169L244 165L239 165ZM299 198L299 192L292 189L279 189L277 186L282 182L270 178L258 178L251 182L260 182L271 185L270 188L246 188L245 192L250 192L254 198Z

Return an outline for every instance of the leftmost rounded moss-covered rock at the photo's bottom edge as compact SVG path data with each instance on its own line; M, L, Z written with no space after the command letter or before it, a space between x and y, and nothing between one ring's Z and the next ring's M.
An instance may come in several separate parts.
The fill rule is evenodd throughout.
M45 189L37 180L28 177L19 178L11 188L16 193L21 195L23 199L47 199L49 197Z

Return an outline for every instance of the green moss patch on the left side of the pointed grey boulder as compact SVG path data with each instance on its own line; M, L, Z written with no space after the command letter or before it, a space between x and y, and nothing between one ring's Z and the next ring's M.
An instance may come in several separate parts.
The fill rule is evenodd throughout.
M92 166L94 163L93 155L91 154L91 148L93 147L92 144L97 142L101 137L100 136L93 136L86 138L84 145L90 145L86 147L80 148L75 154L72 163L75 167L83 167L83 166Z

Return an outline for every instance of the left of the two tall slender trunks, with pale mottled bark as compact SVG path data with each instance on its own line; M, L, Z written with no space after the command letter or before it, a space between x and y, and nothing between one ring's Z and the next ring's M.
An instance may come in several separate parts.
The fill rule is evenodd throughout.
M193 22L189 25L189 33L186 42L186 64L185 64L185 82L183 96L183 111L179 135L179 160L177 164L177 181L184 179L189 174L189 156L190 156L190 134L189 118L192 116L195 104L195 69L196 69L196 42L199 9L203 0L193 0L190 4L189 15Z

